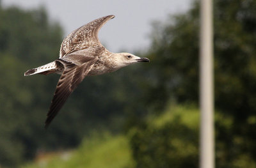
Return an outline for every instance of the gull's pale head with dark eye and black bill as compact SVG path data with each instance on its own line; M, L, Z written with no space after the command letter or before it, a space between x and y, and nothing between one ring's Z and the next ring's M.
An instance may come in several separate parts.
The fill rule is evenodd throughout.
M115 54L115 60L118 68L131 65L132 63L149 62L147 57L138 57L127 52Z

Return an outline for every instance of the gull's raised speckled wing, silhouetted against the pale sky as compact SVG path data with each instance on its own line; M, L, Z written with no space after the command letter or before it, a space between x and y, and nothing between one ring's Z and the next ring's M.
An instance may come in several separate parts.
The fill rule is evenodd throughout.
M77 50L88 49L89 47L102 46L99 42L99 29L114 15L108 15L79 27L63 40L60 47L60 58ZM103 47L103 46L102 46Z

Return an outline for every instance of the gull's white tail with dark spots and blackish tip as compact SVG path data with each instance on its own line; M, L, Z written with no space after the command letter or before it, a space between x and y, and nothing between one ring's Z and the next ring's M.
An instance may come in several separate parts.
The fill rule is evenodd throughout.
M54 73L58 71L56 61L48 63L47 65L39 66L38 68L33 68L24 73L24 76L34 75L36 73L40 73L43 75L48 75L50 73Z

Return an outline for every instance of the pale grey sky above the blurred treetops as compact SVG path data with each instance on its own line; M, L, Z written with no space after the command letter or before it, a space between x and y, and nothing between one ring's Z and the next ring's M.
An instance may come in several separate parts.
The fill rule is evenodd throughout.
M102 27L100 42L112 51L131 52L150 43L150 23L165 20L169 14L182 13L191 7L193 0L2 0L4 7L17 5L24 9L45 6L51 20L60 22L68 33L94 19L115 15L115 19Z

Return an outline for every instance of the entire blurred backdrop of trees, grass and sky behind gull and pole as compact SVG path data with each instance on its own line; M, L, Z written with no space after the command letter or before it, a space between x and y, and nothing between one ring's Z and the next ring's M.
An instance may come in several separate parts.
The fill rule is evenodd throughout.
M45 130L60 76L24 72L110 14L100 41L150 63L86 77ZM198 167L198 28L192 0L0 0L0 167ZM256 1L215 0L216 167L256 167L255 45Z

